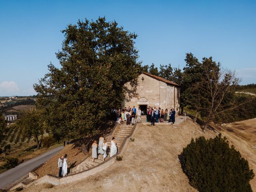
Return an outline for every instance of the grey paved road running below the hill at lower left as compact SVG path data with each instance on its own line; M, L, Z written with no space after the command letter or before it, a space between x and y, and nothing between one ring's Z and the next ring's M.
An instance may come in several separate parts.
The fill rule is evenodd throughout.
M63 146L54 148L44 154L30 159L6 172L0 174L0 189L3 189L5 186L11 184L12 182L18 180L22 176L26 175L32 169L36 168L40 164L46 162L48 159L57 154L60 150L62 150Z

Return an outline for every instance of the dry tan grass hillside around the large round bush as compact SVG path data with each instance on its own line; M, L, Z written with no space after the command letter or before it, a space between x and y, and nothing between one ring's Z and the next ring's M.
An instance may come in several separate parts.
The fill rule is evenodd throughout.
M178 155L191 140L199 136L214 137L218 133L203 133L191 121L176 126L146 126L140 124L134 134L135 141L129 142L124 158L108 169L79 182L54 186L31 186L29 192L84 192L84 191L169 191L196 192L182 172ZM256 149L248 142L223 132L231 143L249 160L250 168L256 172ZM251 182L256 191L256 179Z

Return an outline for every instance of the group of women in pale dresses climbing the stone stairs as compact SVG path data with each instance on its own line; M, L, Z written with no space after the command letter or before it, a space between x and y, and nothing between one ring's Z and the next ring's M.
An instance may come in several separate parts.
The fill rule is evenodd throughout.
M94 162L94 160L98 158L98 154L103 155L102 161L104 162L107 156L107 148L108 148L108 143L106 142L106 139L104 139L103 136L100 136L99 144L97 144L97 141L94 140L92 144L92 162ZM111 146L110 146L110 157L112 157L116 153L117 153L117 143L115 141L115 138L113 137L111 140Z

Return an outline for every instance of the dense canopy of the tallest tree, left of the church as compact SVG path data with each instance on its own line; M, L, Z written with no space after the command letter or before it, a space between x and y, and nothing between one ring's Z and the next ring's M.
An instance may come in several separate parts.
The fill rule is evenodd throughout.
M124 84L136 81L141 70L137 35L105 18L70 24L62 31L61 68L34 85L37 107L44 109L46 127L64 138L84 138L104 122L110 109L121 106Z

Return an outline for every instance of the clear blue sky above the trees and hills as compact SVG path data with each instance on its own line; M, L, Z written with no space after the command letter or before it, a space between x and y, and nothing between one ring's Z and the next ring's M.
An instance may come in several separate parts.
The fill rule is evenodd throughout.
M212 56L256 83L256 0L0 0L0 96L33 95L61 48L60 30L105 16L138 34L142 64L183 68Z

